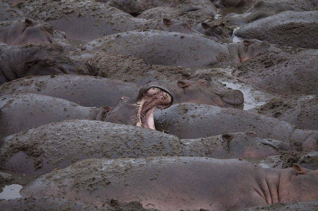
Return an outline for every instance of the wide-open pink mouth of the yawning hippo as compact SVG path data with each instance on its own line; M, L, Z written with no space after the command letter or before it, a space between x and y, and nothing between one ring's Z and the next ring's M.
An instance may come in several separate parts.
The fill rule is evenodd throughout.
M154 122L155 109L166 109L171 104L172 96L169 93L157 87L149 88L136 103L139 106L137 126L156 130Z

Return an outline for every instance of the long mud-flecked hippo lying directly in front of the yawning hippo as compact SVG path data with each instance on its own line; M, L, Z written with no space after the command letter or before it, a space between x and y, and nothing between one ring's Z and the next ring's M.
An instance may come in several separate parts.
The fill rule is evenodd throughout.
M131 125L66 120L0 140L0 169L44 174L88 158L254 158L298 150L298 143L259 138L254 132L180 140L173 135Z

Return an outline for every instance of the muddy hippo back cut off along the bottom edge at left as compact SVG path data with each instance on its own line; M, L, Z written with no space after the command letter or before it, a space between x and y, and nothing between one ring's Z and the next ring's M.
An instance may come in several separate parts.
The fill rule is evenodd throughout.
M92 211L158 211L152 208L145 209L142 204L137 201L129 203L121 203L112 201L102 207L97 207L92 204L84 204L77 201L66 200L57 197L21 197L10 200L0 199L0 207L2 211L17 210L33 210L33 211L51 211L51 210L92 210Z

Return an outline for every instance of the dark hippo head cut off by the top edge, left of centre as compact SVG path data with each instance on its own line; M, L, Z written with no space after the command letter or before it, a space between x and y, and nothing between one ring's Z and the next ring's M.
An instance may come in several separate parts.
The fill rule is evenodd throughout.
M97 0L101 3L107 3L111 7L115 7L129 14L140 12L139 5L134 0Z

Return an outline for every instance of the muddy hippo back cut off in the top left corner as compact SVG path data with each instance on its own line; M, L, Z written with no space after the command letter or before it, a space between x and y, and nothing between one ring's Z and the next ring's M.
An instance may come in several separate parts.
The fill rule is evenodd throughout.
M6 0L0 2L0 21L12 21L23 19L24 15Z

